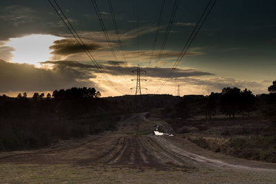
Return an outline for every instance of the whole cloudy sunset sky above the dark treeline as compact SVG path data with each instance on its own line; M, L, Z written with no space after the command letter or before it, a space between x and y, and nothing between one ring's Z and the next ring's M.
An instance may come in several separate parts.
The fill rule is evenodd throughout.
M208 0L179 1L158 65L175 0L165 1L159 27L161 0L110 1L121 47L108 0L96 2L116 58L90 0L57 0L57 3L120 92L90 61L49 1L3 0L0 1L0 94L17 96L19 92L27 92L32 96L33 92L83 86L96 88L102 96L135 94L130 88L136 87L132 79L137 74L132 71L137 65L146 70L141 72L141 79L147 79L141 80L141 88L147 88L142 89L142 94L176 95L177 85L181 95L206 95L226 87L248 88L254 94L262 94L268 92L268 86L276 78L276 1L217 0L185 57L159 91Z

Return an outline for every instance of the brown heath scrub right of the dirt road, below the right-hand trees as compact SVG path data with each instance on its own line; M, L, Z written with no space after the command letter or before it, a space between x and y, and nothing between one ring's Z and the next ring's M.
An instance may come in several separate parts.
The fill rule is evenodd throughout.
M276 163L276 136L262 116L168 121L180 136L199 147L242 159Z

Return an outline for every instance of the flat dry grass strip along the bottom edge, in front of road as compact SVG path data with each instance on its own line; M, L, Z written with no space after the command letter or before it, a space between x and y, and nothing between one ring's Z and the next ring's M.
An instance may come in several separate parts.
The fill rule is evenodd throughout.
M270 172L158 170L126 166L0 164L3 183L275 183Z

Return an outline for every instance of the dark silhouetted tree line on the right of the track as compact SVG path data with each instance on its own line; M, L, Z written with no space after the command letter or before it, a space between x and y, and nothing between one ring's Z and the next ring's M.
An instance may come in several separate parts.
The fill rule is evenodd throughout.
M174 108L164 110L164 114L174 110L175 113L170 115L182 119L203 114L206 119L212 119L217 114L224 114L230 119L235 118L237 114L250 116L251 112L262 110L271 117L276 114L276 81L268 87L268 92L269 94L254 95L248 89L234 87L223 88L221 92L211 92L208 96L185 95Z

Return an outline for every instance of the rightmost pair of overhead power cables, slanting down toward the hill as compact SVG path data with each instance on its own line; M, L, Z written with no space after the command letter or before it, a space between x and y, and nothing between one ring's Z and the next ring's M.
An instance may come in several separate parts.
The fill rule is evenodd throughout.
M164 83L161 84L161 86L159 87L159 89L157 90L157 92L159 92L164 87L164 85L167 83L168 79L170 79L170 76L172 76L172 73L175 72L175 69L177 68L177 66L181 62L181 59L183 59L183 57L186 55L187 50L190 48L190 45L193 43L195 37L197 37L197 34L199 33L199 30L201 29L202 25L204 25L204 22L206 21L208 15L210 14L210 12L213 9L213 7L215 6L215 3L217 2L217 0L215 0L213 2L213 4L211 4L211 1L212 0L209 0L206 8L204 9L204 12L202 12L202 14L201 14L201 16L199 18L199 21L197 22L197 25L193 29L193 32L190 34L190 37L188 38L188 41L184 45L184 48L181 50L181 53L179 54L179 57L175 61L175 64L172 66L172 69L168 73L168 75L167 75ZM205 15L205 17L204 17L204 15ZM202 21L202 19L203 19L203 21Z

